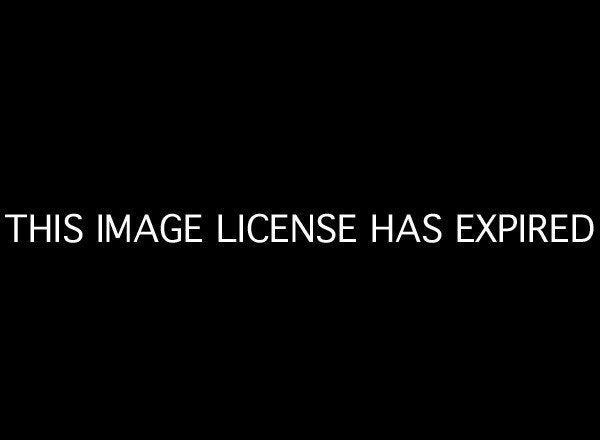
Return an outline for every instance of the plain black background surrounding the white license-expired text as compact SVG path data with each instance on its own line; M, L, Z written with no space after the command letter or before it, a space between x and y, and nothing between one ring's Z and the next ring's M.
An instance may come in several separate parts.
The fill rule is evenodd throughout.
M361 243L5 240L12 413L572 429L594 389L597 238L460 246L453 218L597 221L592 29L539 11L247 12L30 11L3 55L2 213L356 212ZM428 212L440 245L368 244L371 213Z

